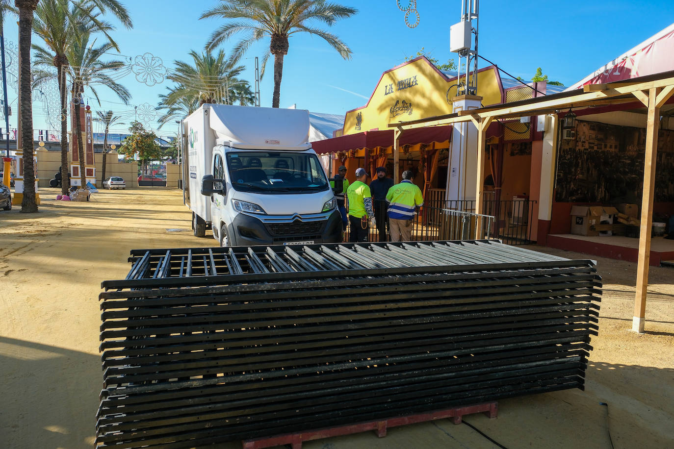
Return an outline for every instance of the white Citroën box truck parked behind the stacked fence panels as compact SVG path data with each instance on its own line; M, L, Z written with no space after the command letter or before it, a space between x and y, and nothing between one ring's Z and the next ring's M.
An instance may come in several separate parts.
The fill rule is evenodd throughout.
M194 235L221 246L332 243L342 221L309 111L204 104L183 122Z

